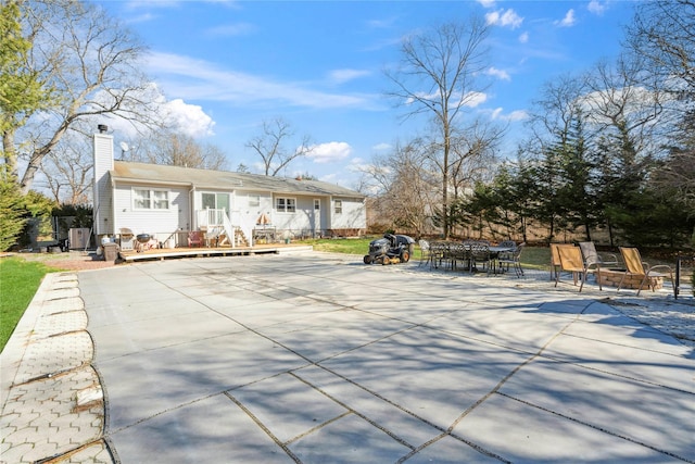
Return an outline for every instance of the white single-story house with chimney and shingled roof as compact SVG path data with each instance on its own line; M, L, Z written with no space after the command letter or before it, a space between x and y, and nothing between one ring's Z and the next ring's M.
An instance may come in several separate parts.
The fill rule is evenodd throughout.
M148 234L186 247L202 230L232 247L256 239L358 236L366 197L325 181L114 160L113 137L94 134L94 234ZM101 241L100 241L101 242Z

